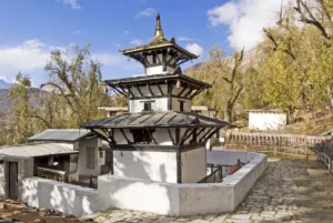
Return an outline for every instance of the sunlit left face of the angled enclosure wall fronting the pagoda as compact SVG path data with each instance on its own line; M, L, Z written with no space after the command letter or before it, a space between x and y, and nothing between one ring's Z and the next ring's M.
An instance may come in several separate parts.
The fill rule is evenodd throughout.
M179 190L173 184L117 175L99 176L99 196L107 209L129 209L179 215Z

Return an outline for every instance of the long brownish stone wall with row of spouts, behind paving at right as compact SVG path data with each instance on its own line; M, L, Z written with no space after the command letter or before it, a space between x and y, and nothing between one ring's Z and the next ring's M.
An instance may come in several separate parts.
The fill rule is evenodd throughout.
M333 138L296 134L266 134L232 132L226 148L268 153L275 156L315 160L316 152L333 155Z

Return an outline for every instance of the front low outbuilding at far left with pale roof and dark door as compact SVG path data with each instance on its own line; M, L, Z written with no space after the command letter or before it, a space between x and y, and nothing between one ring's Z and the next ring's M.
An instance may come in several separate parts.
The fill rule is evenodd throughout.
M21 180L33 175L67 181L75 172L77 166L70 163L71 156L78 153L69 145L59 143L0 148L0 196L19 197Z

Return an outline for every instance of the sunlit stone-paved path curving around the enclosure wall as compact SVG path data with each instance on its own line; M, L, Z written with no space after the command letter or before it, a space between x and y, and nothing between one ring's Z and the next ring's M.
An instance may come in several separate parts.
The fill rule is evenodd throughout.
M93 222L333 222L332 185L332 176L319 162L270 160L268 170L234 213L172 217L110 210L94 215Z

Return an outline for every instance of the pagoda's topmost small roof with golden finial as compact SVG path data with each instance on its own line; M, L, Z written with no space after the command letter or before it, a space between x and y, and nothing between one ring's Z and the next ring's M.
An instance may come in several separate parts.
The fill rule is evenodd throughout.
M162 26L161 26L161 19L160 14L157 14L157 24L155 24L155 36L151 39L150 43L144 45L139 45L135 48L130 48L125 50L120 51L122 54L128 55L139 62L141 62L144 67L151 67L152 64L160 63L162 64L162 60L167 65L170 67L176 67L181 63L184 63L189 60L196 59L198 55L189 52L188 50L183 49L182 47L178 45L175 43L174 38L171 38L171 40L167 40ZM168 57L158 57L158 54L161 53L161 55ZM158 60L155 62L149 61L150 55L155 55ZM170 58L170 61L169 61ZM161 59L161 60L160 60ZM172 60L174 59L174 60ZM172 61L172 63L171 63Z

